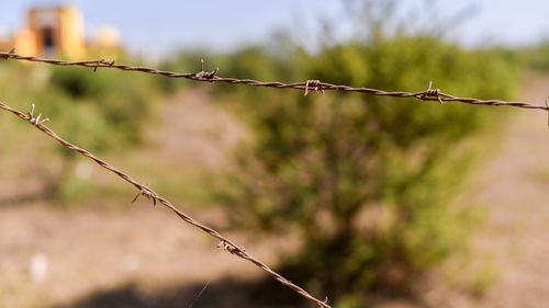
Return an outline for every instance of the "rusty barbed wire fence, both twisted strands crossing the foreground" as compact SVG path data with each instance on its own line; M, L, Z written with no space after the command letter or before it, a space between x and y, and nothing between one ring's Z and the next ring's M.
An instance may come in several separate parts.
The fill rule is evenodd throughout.
M480 99L473 99L473 98L459 98L459 96L455 96L455 95L451 95L448 93L444 93L440 91L440 89L433 89L432 88L433 81L429 81L427 90L424 90L424 91L419 91L419 92L394 91L394 92L391 92L391 91L383 91L383 90L370 89L370 88L354 88L354 87L349 87L349 85L333 84L333 83L328 83L328 82L322 82L320 80L307 80L304 82L285 83L285 82L281 82L281 81L264 82L264 81L258 81L258 80L253 80L253 79L237 79L237 78L231 78L231 77L220 77L220 76L217 76L217 72L220 70L219 68L215 68L215 70L213 70L211 72L204 71L203 70L203 60L200 61L200 71L199 72L173 72L173 71L160 70L160 69L149 68L149 67L120 65L120 64L115 64L114 60L107 60L107 59L69 61L69 60L61 60L61 59L48 59L48 58L41 58L41 57L33 57L33 56L22 56L22 55L16 54L14 48L8 53L0 52L0 58L14 59L14 60L21 60L21 61L31 61L31 62L44 62L44 64L49 64L49 65L54 65L54 66L80 66L80 67L92 68L93 71L97 71L98 68L115 68L115 69L120 69L120 70L125 70L125 71L138 71L138 72L144 72L144 73L160 75L160 76L165 76L165 77L169 77L169 78L184 78L184 79L194 80L194 81L225 82L225 83L232 83L232 84L247 84L247 85L251 85L251 87L266 87L266 88L276 88L276 89L294 89L294 90L304 91L305 96L309 94L310 91L321 91L322 94L324 94L324 92L328 91L328 90L339 90L339 91L345 91L345 92L359 92L359 93L366 93L366 94L371 94L371 95L392 96L392 98L399 98L399 99L412 98L412 99L417 99L421 101L437 101L440 104L444 104L446 102L460 102L460 103L473 104L473 105L492 105L492 106L506 105L506 106L514 106L514 107L520 107L520 109L544 110L544 111L549 112L549 103L547 101L546 101L546 105L544 106L544 105L531 104L528 102L508 102L508 101L502 101L502 100L480 100ZM42 130L46 135L48 135L49 137L57 140L64 147L66 147L70 150L77 151L77 152L81 153L82 156L88 157L89 159L96 161L102 168L113 172L114 174L119 175L120 178L122 178L126 182L134 185L138 190L138 193L133 198L132 202L135 202L139 196L144 196L144 197L150 199L153 202L153 205L155 205L155 206L156 206L157 202L163 204L164 206L168 207L173 213L176 213L186 223L192 225L195 228L201 229L202 231L206 232L208 235L220 240L220 243L217 244L219 248L222 248L222 249L231 252L232 254L235 254L244 260L247 260L247 261L254 263L256 266L258 266L262 271L267 272L270 276L272 276L274 280L280 282L282 285L290 287L295 293L298 293L299 295L311 300L315 305L323 307L323 308L330 308L330 306L327 304L327 298L324 301L321 301L320 299L313 297L305 289L293 284L289 280L284 278L282 275L272 271L268 265L266 265L265 263L262 263L258 259L248 254L244 248L236 246L232 240L225 238L216 230L214 230L205 225L202 225L198 220L193 219L189 215L187 215L183 212L181 212L180 209L178 209L168 199L161 197L160 195L158 195L156 192L154 192L148 186L135 181L133 178L131 178L126 173L115 169L114 167L109 164L107 161L96 157L94 155L87 151L86 149L79 148L79 147L64 140L63 138L60 138L56 133L54 133L51 128L48 128L47 126L44 125L44 123L49 121L49 118L41 119L42 114L34 117L34 104L32 105L31 112L29 112L27 114L24 114L19 110L12 109L2 102L0 102L0 109L8 111L8 112L11 112L11 113L15 114L16 116L19 116L20 118L31 123L32 125L34 125L36 128L38 128L40 130ZM548 117L548 125L549 125L549 117Z

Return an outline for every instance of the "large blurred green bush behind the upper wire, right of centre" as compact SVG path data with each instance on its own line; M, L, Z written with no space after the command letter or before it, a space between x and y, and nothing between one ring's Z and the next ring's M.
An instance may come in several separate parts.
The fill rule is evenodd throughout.
M509 99L518 79L501 53L425 35L378 35L287 59L257 48L233 57L232 73L250 78L388 91L422 91L433 80L457 95ZM479 149L470 137L502 113L340 92L226 98L235 95L253 138L216 195L236 226L300 236L302 249L284 264L292 281L355 303L372 287L410 289L467 243L475 214L455 196Z

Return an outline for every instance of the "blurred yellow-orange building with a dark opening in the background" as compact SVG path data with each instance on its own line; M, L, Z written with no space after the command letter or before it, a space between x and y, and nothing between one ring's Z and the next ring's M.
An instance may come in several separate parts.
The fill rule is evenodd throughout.
M116 32L111 30L110 33ZM119 36L101 33L97 37L99 42L90 44L91 50L119 48ZM33 8L27 12L26 27L0 41L0 50L13 47L18 54L25 56L80 58L87 49L82 15L72 7Z

